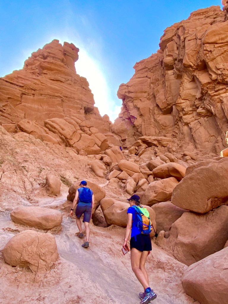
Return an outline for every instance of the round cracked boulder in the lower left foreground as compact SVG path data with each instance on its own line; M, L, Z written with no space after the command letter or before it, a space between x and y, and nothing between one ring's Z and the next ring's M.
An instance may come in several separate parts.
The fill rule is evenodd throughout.
M36 273L54 268L59 254L52 234L25 230L9 240L3 249L3 257L13 267L29 267Z

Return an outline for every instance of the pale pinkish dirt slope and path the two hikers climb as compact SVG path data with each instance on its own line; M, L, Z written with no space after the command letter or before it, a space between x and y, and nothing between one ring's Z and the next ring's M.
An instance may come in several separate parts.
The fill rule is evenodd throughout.
M14 223L10 211L17 206L41 206L62 210L60 231L54 233L59 252L55 268L45 274L33 274L29 268L6 264L1 251L1 291L4 303L137 303L141 286L130 266L130 254L121 251L124 228L107 227L100 207L91 224L90 247L81 247L82 240L75 218L69 217L66 201L69 185L89 178L103 186L106 196L125 201L129 195L123 188L107 185L87 166L87 156L77 155L71 148L56 146L35 139L26 133L15 135L1 129L1 250L7 241L27 229L42 233L47 230ZM61 195L54 197L45 188L47 173L61 176ZM69 183L69 184L68 184ZM156 303L194 303L181 286L186 265L176 261L153 245L148 257L150 282L158 297Z

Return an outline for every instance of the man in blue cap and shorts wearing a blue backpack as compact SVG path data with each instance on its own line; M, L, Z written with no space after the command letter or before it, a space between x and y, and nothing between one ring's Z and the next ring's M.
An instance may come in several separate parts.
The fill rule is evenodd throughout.
M76 215L76 223L79 229L78 237L84 237L81 229L81 216L83 214L83 223L85 223L85 234L86 234L86 241L81 246L83 248L89 247L89 236L90 236L90 227L89 222L92 216L92 209L94 206L94 194L92 190L87 188L87 182L81 181L80 188L76 190L74 201L71 208L70 216L72 217L74 207L78 202L78 206L75 210Z

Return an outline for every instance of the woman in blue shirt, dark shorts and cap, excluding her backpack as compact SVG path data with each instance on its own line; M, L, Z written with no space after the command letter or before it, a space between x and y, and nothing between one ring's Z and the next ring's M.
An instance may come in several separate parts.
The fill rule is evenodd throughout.
M157 297L154 290L150 288L147 271L145 269L147 255L152 249L151 240L150 234L142 234L137 226L136 209L134 207L140 206L140 197L134 194L127 200L130 202L130 207L127 210L128 222L123 247L126 250L128 249L127 240L131 232L131 267L136 278L143 285L144 292L140 292L139 294L140 304L143 304Z

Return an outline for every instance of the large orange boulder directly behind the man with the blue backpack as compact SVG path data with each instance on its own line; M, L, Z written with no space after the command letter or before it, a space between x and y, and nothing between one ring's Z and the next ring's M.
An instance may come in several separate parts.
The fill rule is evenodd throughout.
M88 179L86 178L81 178L79 181L76 181L74 184L72 184L71 187L69 188L68 190L69 194L67 195L67 200L73 202L76 190L79 188L79 185L82 180L87 181L87 186L93 191L94 194L95 204L92 210L92 215L93 215L96 209L98 208L98 206L100 205L101 199L103 199L106 195L105 190L96 183L92 181L88 181Z

